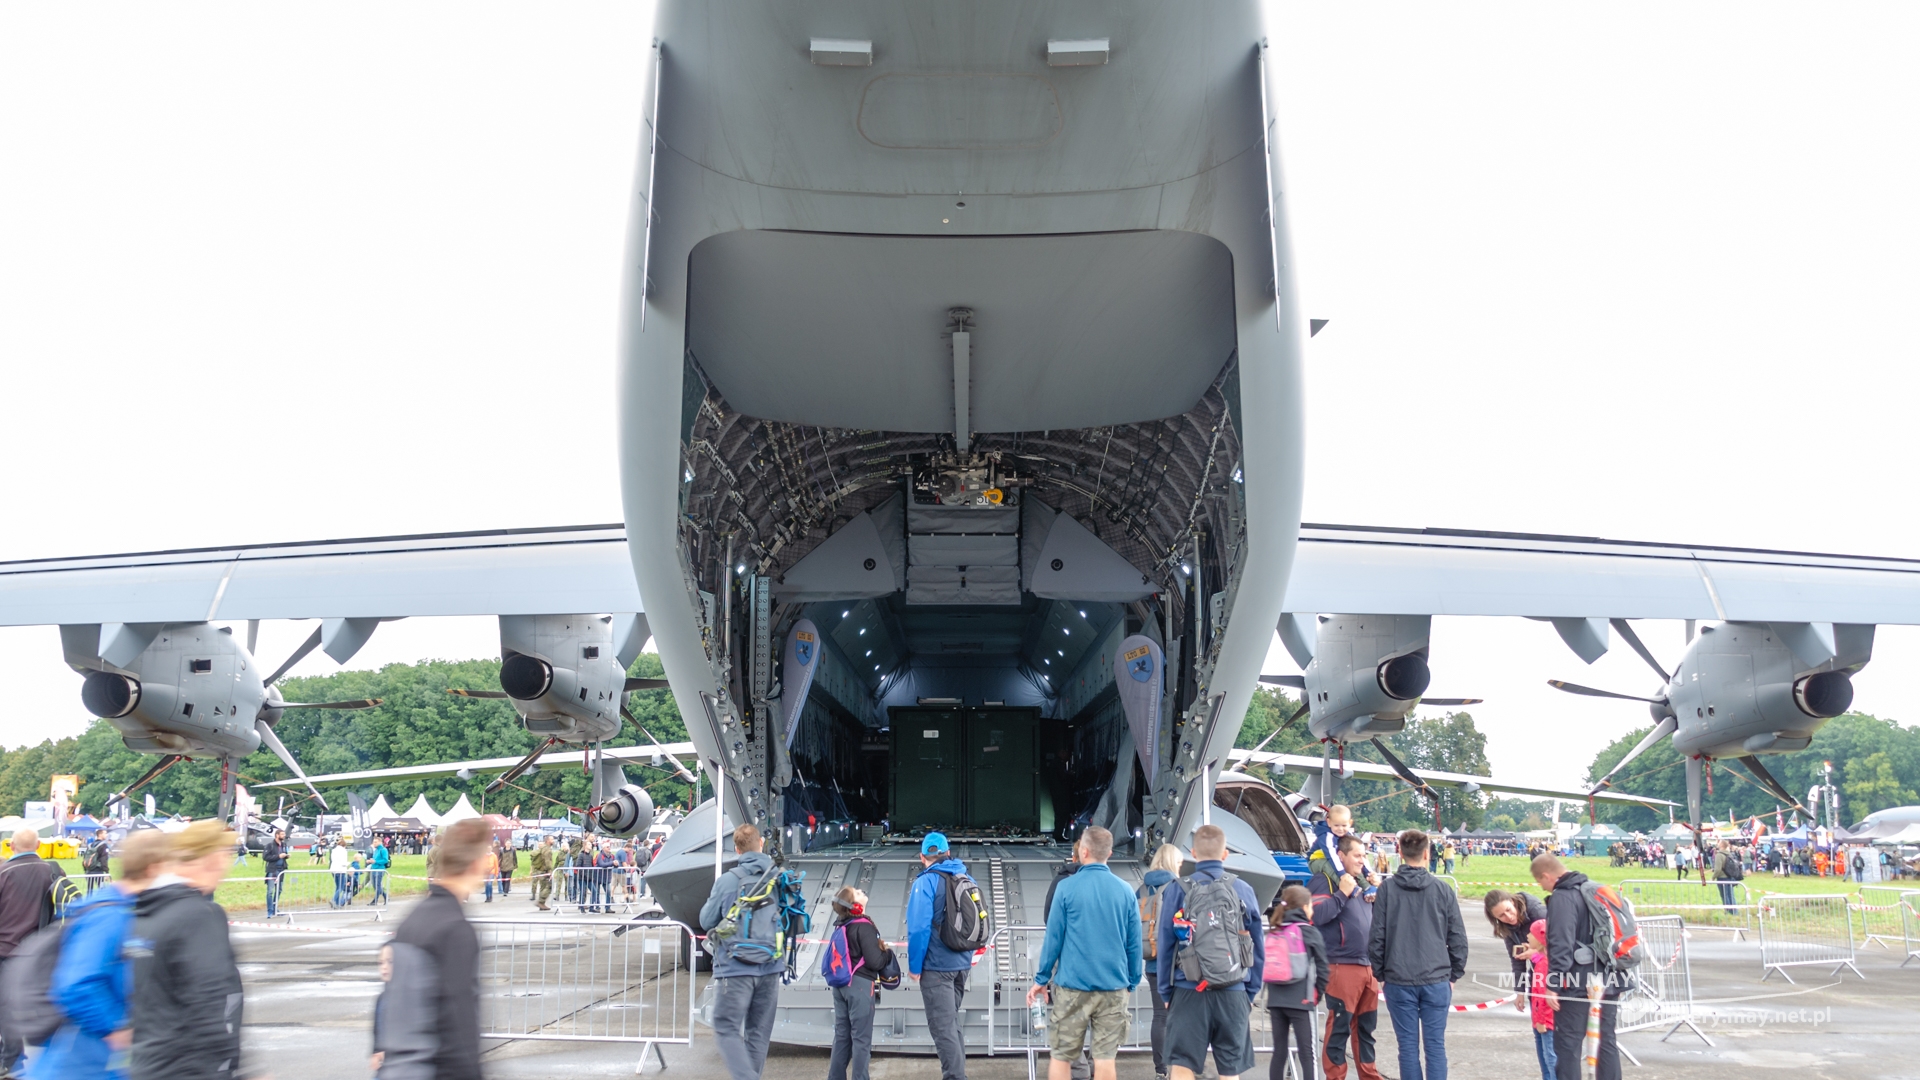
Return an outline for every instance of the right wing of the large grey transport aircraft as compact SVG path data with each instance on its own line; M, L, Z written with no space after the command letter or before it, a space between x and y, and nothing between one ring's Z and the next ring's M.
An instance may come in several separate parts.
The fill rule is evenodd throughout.
M1286 609L1920 625L1920 559L1306 525Z

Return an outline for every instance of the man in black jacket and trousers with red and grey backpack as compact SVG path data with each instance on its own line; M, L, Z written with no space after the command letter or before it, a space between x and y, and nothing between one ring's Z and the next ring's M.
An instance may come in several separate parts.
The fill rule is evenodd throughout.
M1613 890L1603 890L1578 871L1569 871L1555 855L1540 855L1532 863L1534 880L1548 894L1548 974L1544 999L1553 1007L1553 1055L1559 1080L1580 1080L1586 1055L1586 1019L1594 1005L1590 988L1599 990L1599 1053L1594 1080L1620 1080L1620 1043L1615 1026L1620 1020L1620 990L1628 974L1615 959L1619 942L1611 926L1594 919L1594 905L1605 905L1615 919L1628 920L1624 901ZM1611 901L1607 897L1613 897ZM1605 928L1605 934L1596 930ZM1638 936L1638 932L1632 932ZM1596 947L1596 944L1599 947ZM1632 959L1626 961L1636 963Z

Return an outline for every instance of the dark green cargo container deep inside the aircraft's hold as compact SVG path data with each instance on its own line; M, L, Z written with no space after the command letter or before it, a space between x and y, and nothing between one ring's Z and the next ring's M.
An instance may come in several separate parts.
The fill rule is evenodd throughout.
M1039 834L1039 709L900 707L891 723L895 832Z

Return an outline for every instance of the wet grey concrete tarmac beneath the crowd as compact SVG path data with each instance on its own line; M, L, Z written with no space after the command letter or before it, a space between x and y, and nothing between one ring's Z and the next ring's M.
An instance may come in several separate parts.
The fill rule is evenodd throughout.
M472 903L468 915L528 917L524 897ZM372 1003L380 992L376 953L405 917L397 903L384 922L365 909L351 915L311 917L311 930L234 926L240 972L246 980L244 1045L252 1067L282 1080L363 1080L369 1076ZM541 915L543 917L543 915ZM1507 963L1500 942L1488 934L1478 901L1463 905L1473 944L1469 974L1455 988L1455 1003L1503 997ZM1795 1070L1801 1080L1920 1078L1920 961L1901 969L1903 953L1878 945L1859 951L1859 969L1828 976L1826 969L1795 969L1797 986L1778 976L1761 982L1759 945L1732 942L1724 932L1695 930L1690 940L1697 1026L1707 1045L1688 1030L1661 1040L1663 1030L1630 1032L1620 1043L1640 1059L1626 1063L1632 1080L1749 1078L1755 1070ZM705 984L705 976L701 976ZM1448 1022L1452 1076L1538 1076L1530 1026L1511 1005L1492 1011L1453 1013ZM712 1032L695 1028L691 1047L666 1047L670 1074L726 1076ZM632 1076L637 1047L624 1043L490 1042L484 1053L492 1078L515 1076ZM647 1072L657 1070L647 1063ZM1400 1076L1394 1030L1382 1003L1379 1065ZM1046 1061L1039 1063L1044 1070ZM770 1080L822 1078L828 1051L774 1047L766 1063ZM937 1080L931 1057L876 1055L876 1080ZM1267 1074L1267 1055L1256 1067ZM1025 1078L1023 1057L972 1057L975 1080ZM1148 1080L1146 1055L1121 1055L1119 1076ZM1352 1076L1352 1072L1350 1072Z

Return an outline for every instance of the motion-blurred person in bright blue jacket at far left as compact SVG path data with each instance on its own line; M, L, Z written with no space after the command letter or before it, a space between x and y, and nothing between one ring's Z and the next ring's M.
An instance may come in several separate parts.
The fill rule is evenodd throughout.
M50 994L67 1022L27 1065L29 1080L125 1080L132 1045L127 1028L132 963L121 959L121 940L132 926L134 897L165 863L167 836L136 832L121 849L121 878L67 907L67 932Z

